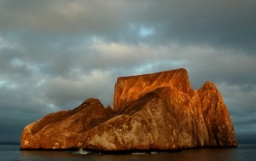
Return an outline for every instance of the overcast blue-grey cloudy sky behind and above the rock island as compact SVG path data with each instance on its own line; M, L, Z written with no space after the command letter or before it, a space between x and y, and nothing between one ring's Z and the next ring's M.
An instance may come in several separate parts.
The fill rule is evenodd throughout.
M0 0L0 141L116 79L186 68L215 83L238 142L256 142L256 1Z

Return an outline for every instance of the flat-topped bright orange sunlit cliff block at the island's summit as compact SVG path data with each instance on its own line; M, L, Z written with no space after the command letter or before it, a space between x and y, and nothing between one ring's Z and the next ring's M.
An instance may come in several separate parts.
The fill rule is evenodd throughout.
M188 72L184 68L165 72L155 72L117 79L114 89L113 110L118 112L130 106L148 92L159 87L174 87L189 94L191 87Z

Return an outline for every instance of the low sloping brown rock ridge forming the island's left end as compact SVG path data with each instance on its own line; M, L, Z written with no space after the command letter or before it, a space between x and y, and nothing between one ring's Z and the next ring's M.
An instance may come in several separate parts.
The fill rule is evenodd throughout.
M76 148L80 136L112 118L112 112L99 100L88 99L73 110L51 113L25 127L20 148Z

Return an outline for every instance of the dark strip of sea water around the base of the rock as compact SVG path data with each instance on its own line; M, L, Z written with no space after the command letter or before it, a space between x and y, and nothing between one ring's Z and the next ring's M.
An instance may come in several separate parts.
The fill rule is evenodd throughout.
M177 152L134 152L114 155L86 151L20 151L20 145L0 145L0 160L256 161L256 144L240 144L237 148L201 148Z

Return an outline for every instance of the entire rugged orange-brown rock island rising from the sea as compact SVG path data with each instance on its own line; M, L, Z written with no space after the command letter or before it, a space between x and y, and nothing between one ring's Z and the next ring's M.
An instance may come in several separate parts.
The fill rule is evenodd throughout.
M236 136L216 86L192 89L185 69L118 78L113 110L89 99L27 125L20 144L99 151L193 147L236 147Z

